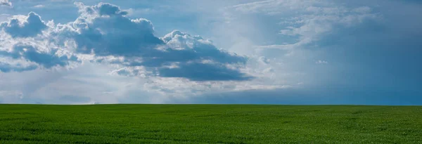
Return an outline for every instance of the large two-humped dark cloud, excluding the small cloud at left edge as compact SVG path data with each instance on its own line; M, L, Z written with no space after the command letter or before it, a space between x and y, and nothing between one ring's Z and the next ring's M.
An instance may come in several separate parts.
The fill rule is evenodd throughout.
M75 4L81 16L72 23L76 31L72 37L79 53L123 56L123 65L129 67L127 70L136 66L146 67L146 70L158 69L154 73L160 77L183 77L194 81L250 78L225 66L245 63L246 58L218 49L210 40L192 37L178 30L158 38L153 35L153 25L149 20L126 18L127 12L117 6L105 3L96 6ZM200 63L203 60L214 63ZM168 65L177 67L167 68ZM200 68L209 70L199 71Z

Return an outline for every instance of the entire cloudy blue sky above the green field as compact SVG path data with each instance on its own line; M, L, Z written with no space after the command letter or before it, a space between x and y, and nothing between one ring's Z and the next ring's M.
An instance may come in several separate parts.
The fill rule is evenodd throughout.
M0 0L0 103L422 105L422 2Z

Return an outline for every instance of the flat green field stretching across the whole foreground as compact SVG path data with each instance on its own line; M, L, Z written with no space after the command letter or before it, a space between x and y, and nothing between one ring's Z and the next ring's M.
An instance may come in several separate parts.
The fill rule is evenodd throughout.
M422 107L0 105L0 143L422 143Z

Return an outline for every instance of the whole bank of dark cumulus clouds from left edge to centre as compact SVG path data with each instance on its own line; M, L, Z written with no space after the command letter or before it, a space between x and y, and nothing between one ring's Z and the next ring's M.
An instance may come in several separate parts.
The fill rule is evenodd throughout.
M124 67L115 73L127 76L142 74L192 81L252 79L238 69L247 58L217 48L209 39L178 30L155 37L151 21L127 18L128 12L118 6L107 3L85 6L80 2L75 5L79 17L65 24L46 23L33 12L3 22L1 27L11 36L10 41L32 41L33 45L26 48L17 46L18 43L3 44L10 47L2 55L46 68L68 65L77 61L77 55L91 55L91 61ZM38 45L43 48L37 48ZM37 51L40 49L49 51ZM73 54L58 55L59 50Z

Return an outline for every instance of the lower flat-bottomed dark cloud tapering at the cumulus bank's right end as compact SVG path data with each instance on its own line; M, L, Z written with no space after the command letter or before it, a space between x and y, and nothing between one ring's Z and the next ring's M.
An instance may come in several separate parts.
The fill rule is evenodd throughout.
M122 63L127 68L117 73L136 75L139 70L131 67L144 66L154 69L154 75L159 77L181 77L193 81L252 79L238 69L229 68L230 65L245 65L247 58L218 49L208 40L179 31L161 39L165 44L160 49L139 52L141 61L138 57L126 58Z

